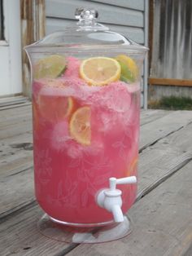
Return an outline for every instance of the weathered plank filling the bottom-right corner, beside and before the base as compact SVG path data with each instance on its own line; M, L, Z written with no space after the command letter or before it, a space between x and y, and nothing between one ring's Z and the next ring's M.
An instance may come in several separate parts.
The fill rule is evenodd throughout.
M184 255L192 245L192 162L129 210L133 232L119 241L79 245L72 255ZM189 201L190 200L190 201Z

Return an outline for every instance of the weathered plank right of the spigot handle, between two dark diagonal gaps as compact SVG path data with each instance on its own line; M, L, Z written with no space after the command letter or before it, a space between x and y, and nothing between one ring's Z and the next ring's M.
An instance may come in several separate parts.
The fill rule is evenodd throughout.
M141 198L192 159L192 123L165 136L139 155L137 198Z

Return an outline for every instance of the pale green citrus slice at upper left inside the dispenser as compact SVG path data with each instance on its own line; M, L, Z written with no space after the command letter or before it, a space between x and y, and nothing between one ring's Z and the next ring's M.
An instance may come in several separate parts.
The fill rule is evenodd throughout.
M38 60L34 66L34 78L59 77L66 68L66 60L62 55L50 55Z

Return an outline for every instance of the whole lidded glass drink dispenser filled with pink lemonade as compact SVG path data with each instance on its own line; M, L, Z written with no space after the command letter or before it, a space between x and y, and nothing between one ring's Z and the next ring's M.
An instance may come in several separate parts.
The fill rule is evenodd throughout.
M147 48L98 24L97 16L78 9L76 26L25 47L32 70L35 194L46 213L38 225L59 241L125 236L125 214L137 193Z

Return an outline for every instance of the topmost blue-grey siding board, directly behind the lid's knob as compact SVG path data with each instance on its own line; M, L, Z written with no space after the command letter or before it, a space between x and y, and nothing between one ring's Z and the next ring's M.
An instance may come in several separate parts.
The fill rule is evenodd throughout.
M74 17L75 20L74 13L77 7L97 8L99 13L98 21L103 24L121 24L140 28L143 28L144 25L142 11L112 7L99 2L96 6L95 2L88 2L85 0L81 0L81 2L77 0L65 0L65 2L46 0L46 16L69 20L72 20L72 17Z

